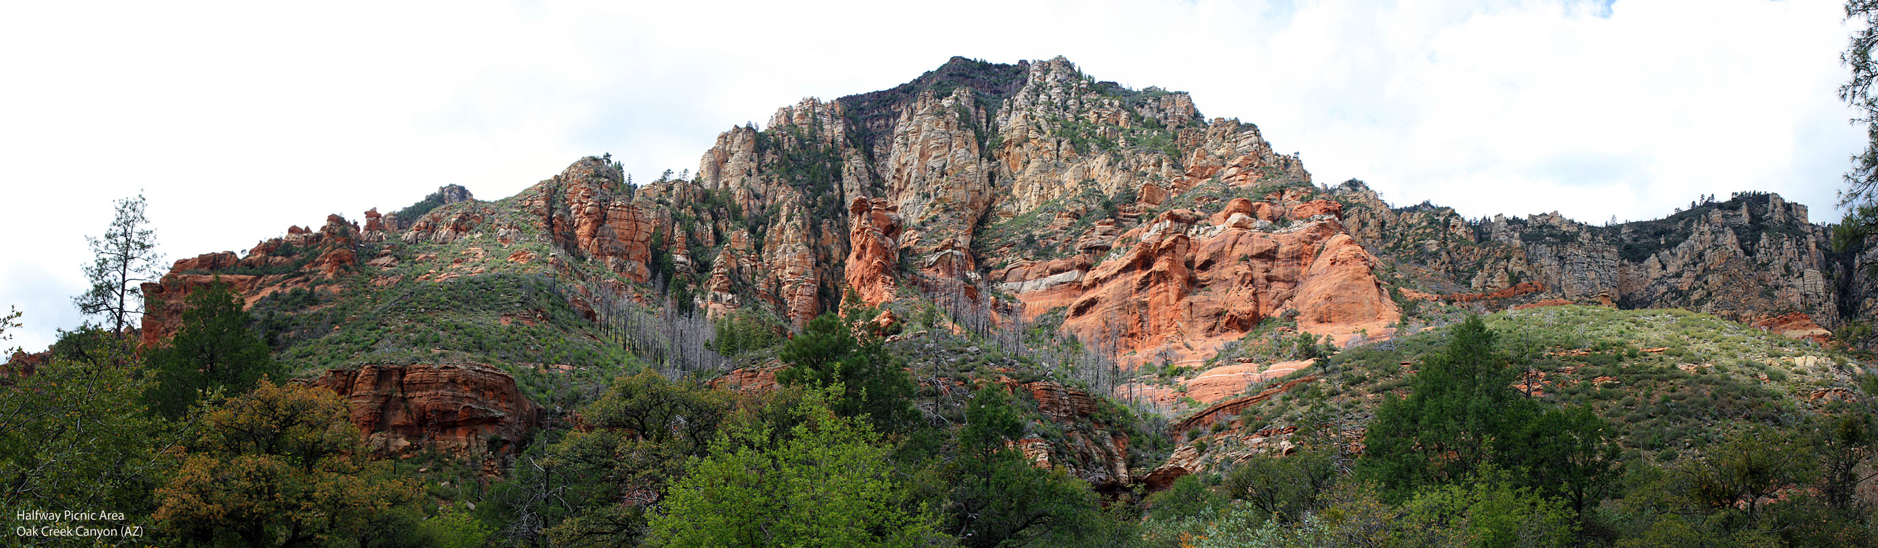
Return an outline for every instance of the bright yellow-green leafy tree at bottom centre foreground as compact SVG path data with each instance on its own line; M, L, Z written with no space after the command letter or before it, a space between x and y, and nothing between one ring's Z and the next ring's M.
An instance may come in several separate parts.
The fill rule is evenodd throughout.
M838 388L836 388L838 390ZM830 390L834 392L834 390ZM672 484L652 518L650 546L918 546L930 518L909 512L888 449L864 420L809 390L787 434L736 417ZM838 394L838 392L834 392Z

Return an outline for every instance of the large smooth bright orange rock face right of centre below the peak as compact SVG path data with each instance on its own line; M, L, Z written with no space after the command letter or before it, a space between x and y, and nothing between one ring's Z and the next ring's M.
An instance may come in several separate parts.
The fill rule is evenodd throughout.
M1373 274L1377 259L1343 233L1341 205L1270 199L1277 203L1232 199L1211 216L1162 212L1117 235L1106 261L1089 248L993 280L1031 317L1067 306L1063 330L1116 343L1129 364L1204 360L1285 312L1339 343L1388 336L1401 310Z

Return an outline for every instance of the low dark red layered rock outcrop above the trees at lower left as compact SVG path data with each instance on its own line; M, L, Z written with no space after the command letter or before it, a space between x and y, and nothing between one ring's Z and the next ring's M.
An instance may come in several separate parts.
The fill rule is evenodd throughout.
M483 364L361 366L331 370L312 385L346 396L359 434L389 454L426 447L513 452L543 420L509 373Z

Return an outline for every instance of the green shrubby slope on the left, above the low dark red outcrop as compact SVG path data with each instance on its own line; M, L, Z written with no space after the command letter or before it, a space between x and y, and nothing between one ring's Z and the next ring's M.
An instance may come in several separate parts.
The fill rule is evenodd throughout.
M524 394L541 403L575 403L578 394L637 368L629 353L569 304L567 295L577 289L565 274L550 276L545 265L550 246L528 231L533 220L524 218L516 199L454 203L438 212L479 212L485 221L449 244L361 246L361 265L314 287L314 298L284 295L257 302L254 313L278 334L276 358L297 375L359 364L486 362L509 370ZM528 235L505 246L496 240L498 223ZM387 248L398 266L364 265ZM537 259L507 261L520 250ZM573 268L588 280L616 278L593 265ZM543 364L575 370L545 372Z

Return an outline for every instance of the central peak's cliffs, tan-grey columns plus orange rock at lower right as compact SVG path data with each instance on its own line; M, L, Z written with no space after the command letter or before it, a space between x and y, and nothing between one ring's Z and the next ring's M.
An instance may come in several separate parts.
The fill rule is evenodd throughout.
M1108 336L1125 340L1125 351L1234 338L1285 310L1300 289L1313 312L1301 321L1313 332L1339 340L1360 330L1380 334L1395 319L1375 278L1356 272L1373 257L1348 238L1330 240L1341 231L1335 203L1305 205L1283 193L1258 210L1236 212L1238 220L1204 220L1193 210L1149 223L1132 218L1206 182L1309 182L1301 163L1275 154L1255 126L1208 122L1187 94L1099 83L1063 58L1016 69L1022 79L1010 66L956 58L896 90L832 103L804 99L779 109L761 131L746 126L719 135L699 163L700 190L685 180L654 184L640 190L640 201L667 197L680 210L700 193L729 195L762 221L753 225L757 265L742 265L749 257L736 253L738 261L712 266L712 295L700 302L710 310L738 302L717 289L744 282L755 289L746 293L800 323L832 310L845 289L870 304L896 298L900 263L918 270L909 282L930 291L945 280L975 287L984 263L995 259L1014 266L992 270L992 282L1024 298L1027 315L1067 306L1076 300L1070 295L1101 293L1089 302L1110 306L1082 308L1076 317L1087 325L1070 330L1097 336L1095 325L1114 317L1125 328ZM947 75L958 84L939 81ZM1065 208L1057 220L1076 223L1093 216L1082 203L1091 195L1114 197L1123 214L1076 233L1020 227L1044 233L1040 248L1074 246L1072 257L1044 261L1039 255L1048 253L982 242L986 223L1046 208ZM1266 229L1281 220L1301 225ZM1268 235L1239 235L1260 229ZM725 250L721 236L685 235L691 246ZM1127 251L1110 257L1117 248ZM1324 250L1332 253L1313 268ZM1256 272L1228 274L1241 255L1262 259L1247 266ZM1099 276L1084 280L1091 272ZM1305 278L1313 285L1300 287ZM1221 287L1238 293L1191 300ZM1362 291L1345 291L1352 287ZM967 293L977 298L978 291Z

